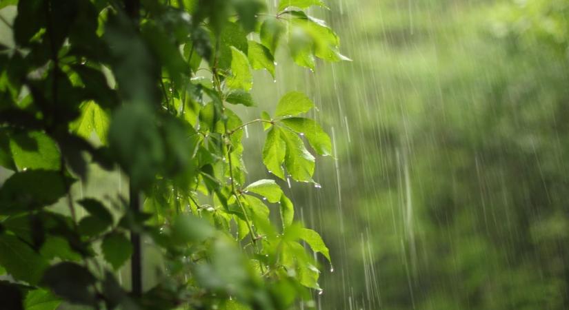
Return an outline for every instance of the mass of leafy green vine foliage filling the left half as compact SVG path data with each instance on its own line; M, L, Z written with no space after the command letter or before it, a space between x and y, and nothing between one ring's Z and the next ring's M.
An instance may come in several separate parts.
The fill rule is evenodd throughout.
M315 183L308 149L328 156L330 138L301 92L233 111L255 105L252 69L274 75L277 48L306 68L347 60L311 6L3 1L1 308L314 308L328 248L273 179L247 178L241 142L259 125L272 175ZM113 173L128 196L83 193Z

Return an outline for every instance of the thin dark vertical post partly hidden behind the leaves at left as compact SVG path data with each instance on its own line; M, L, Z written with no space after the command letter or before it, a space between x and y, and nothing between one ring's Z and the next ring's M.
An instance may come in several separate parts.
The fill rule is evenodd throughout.
M124 9L128 17L138 27L140 14L140 0L124 0ZM129 208L134 216L140 212L140 193L137 188L130 183L128 187ZM138 231L130 231L130 242L132 243L132 258L130 259L130 277L132 295L142 296L142 249L140 244L140 234Z

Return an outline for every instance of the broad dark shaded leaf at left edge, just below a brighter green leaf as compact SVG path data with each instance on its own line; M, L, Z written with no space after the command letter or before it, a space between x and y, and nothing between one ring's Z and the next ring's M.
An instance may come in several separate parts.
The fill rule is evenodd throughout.
M0 189L0 214L8 215L56 203L67 193L59 172L27 170L12 174Z

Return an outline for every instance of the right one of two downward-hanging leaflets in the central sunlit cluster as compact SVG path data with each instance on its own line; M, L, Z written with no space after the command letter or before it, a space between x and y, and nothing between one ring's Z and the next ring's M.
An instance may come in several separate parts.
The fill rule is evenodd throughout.
M287 172L298 181L312 181L315 158L308 152L302 140L294 132L281 131L281 137L286 143L285 167Z

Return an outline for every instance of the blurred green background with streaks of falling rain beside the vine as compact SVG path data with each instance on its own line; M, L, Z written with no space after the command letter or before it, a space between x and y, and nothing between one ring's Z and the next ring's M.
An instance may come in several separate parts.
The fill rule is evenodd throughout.
M254 84L259 111L307 91L334 141L321 189L283 183L330 247L320 309L568 309L569 2L326 3L353 61Z

